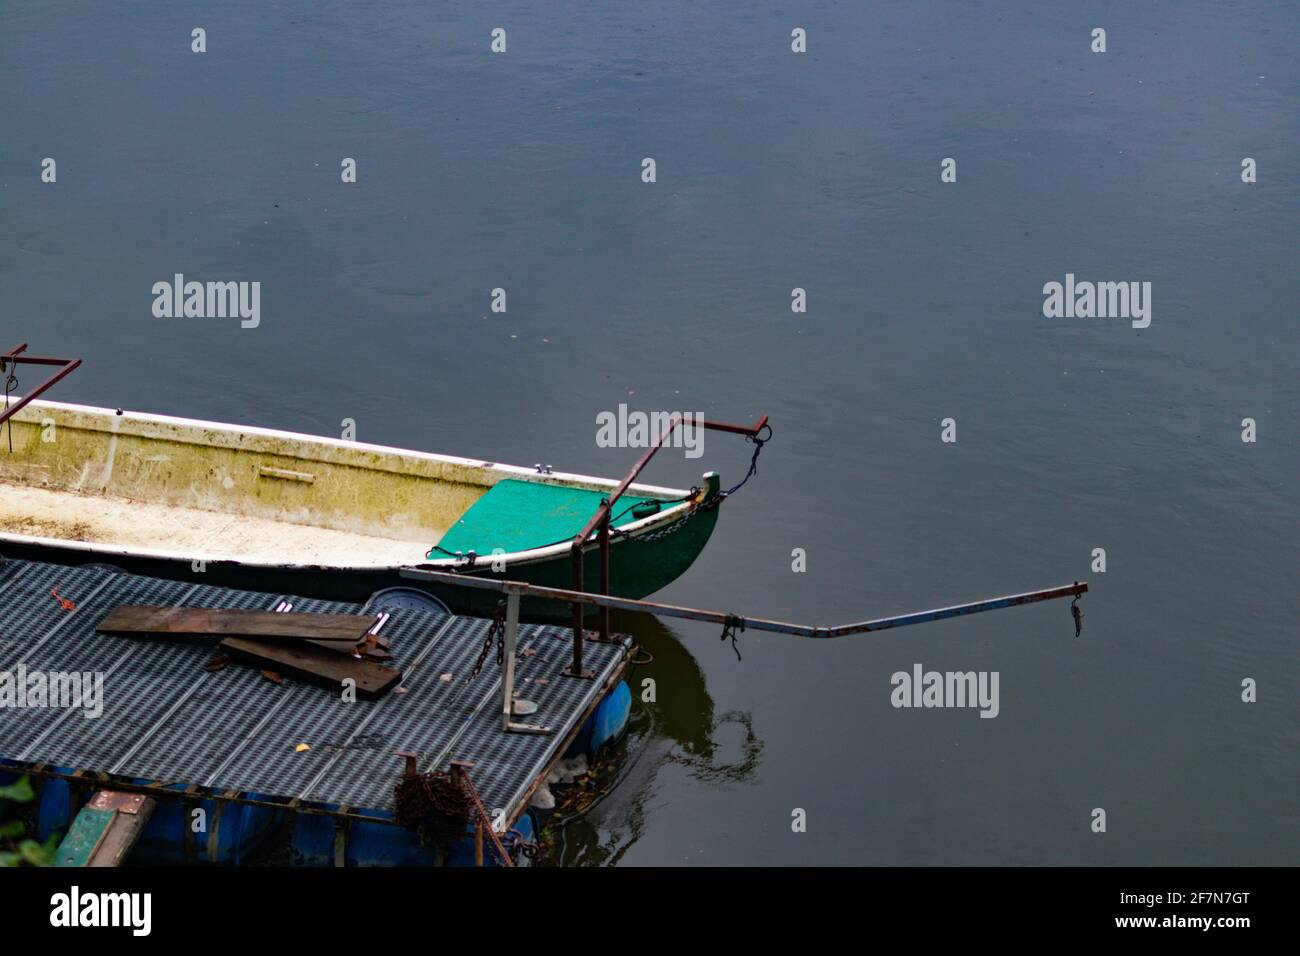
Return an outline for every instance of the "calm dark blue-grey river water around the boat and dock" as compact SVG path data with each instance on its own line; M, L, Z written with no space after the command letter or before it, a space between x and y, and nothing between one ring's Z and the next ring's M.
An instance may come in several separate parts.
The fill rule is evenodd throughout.
M82 356L64 401L608 476L619 403L766 412L675 604L1088 579L1078 639L1057 601L737 661L623 618L658 702L555 858L1296 864L1300 17L1092 7L3 4L0 349ZM260 325L156 319L174 273ZM1150 324L1044 317L1067 273ZM918 663L997 671L997 717L894 708Z

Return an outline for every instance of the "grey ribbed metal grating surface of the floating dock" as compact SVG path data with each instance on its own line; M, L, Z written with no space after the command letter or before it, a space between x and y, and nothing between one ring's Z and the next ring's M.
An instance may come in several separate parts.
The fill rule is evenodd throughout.
M51 594L77 605L65 610ZM165 783L199 784L311 804L390 810L402 771L394 750L474 761L489 810L519 809L533 780L627 656L628 641L589 643L595 680L560 676L572 633L523 624L515 687L538 705L526 718L550 735L500 727L495 650L465 682L489 622L391 609L382 635L403 670L404 693L346 702L341 695L286 678L276 684L231 663L208 672L214 645L100 635L95 626L122 604L360 613L361 606L231 591L104 568L5 561L0 564L0 670L104 674L104 711L0 708L0 758ZM536 654L529 654L532 648ZM450 683L439 680L452 674ZM545 678L534 684L529 679ZM295 752L296 744L311 749Z

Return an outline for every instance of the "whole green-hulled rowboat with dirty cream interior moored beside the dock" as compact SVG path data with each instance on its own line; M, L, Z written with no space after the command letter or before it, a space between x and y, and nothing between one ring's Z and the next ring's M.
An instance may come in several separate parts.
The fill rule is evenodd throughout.
M338 601L410 587L398 570L411 566L569 588L573 538L619 486L61 402L29 402L9 427L0 554ZM641 598L681 575L723 497L714 472L698 489L628 485L611 514L610 592ZM585 589L598 589L598 564L584 562ZM421 587L459 613L495 605L480 589ZM545 610L556 607L529 607Z

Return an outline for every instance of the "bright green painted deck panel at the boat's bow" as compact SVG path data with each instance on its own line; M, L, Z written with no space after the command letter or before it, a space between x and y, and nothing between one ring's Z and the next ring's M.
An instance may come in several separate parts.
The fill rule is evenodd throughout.
M504 479L488 490L438 541L448 551L476 551L486 557L500 548L507 554L572 540L601 505L601 492L564 488L540 481ZM621 527L637 520L630 509L651 501L623 496L614 512ZM438 557L434 553L434 557Z

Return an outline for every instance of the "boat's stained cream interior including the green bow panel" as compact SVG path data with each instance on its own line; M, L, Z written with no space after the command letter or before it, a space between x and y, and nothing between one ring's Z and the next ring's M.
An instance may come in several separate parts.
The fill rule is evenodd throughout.
M263 428L31 402L0 431L0 538L255 564L391 567L425 561L433 545L489 555L571 538L615 484ZM628 509L684 494L649 485L630 490L636 494L620 499ZM636 520L620 510L615 524Z

